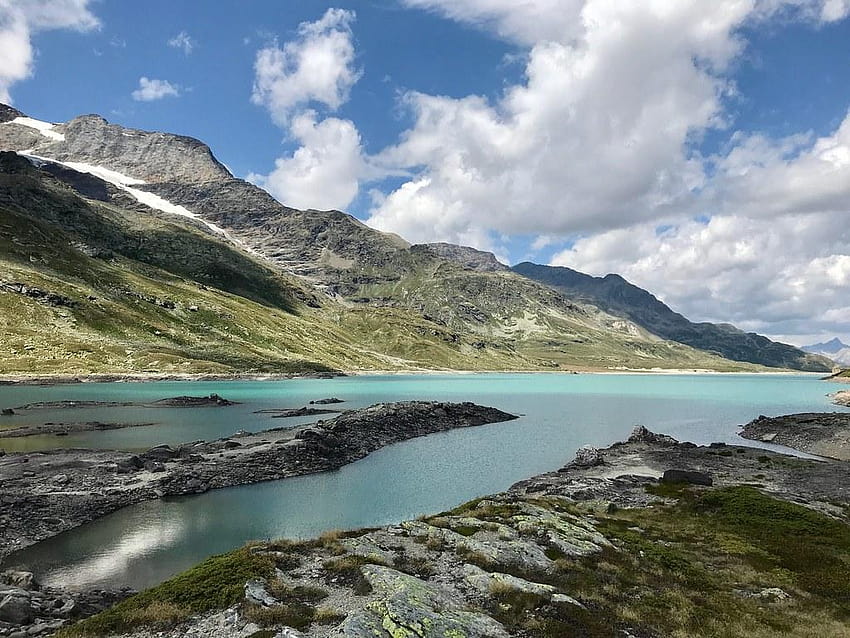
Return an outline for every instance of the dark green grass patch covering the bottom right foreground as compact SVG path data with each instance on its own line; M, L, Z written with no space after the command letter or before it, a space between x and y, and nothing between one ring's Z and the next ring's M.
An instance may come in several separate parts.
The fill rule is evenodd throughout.
M557 561L559 584L610 618L611 627L683 638L846 635L846 524L752 487L671 485L659 495L679 500L602 520L601 531L620 551ZM770 587L790 601L751 596Z

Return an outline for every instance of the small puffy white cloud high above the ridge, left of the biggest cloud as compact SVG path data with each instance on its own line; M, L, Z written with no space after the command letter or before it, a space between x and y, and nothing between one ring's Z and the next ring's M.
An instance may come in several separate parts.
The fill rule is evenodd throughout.
M328 9L319 20L299 25L297 39L258 51L251 100L281 126L311 102L339 108L360 78L354 68L354 17L352 11Z

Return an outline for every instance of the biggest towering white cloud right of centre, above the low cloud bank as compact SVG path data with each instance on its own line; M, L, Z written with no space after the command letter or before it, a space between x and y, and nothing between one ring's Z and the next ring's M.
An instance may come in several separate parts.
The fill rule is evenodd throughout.
M474 227L604 230L688 206L704 175L687 142L723 124L719 71L741 49L745 8L591 0L571 16L581 36L534 45L525 83L498 102L408 94L416 123L381 159L425 167L408 191L417 186L430 221L390 195L371 223L414 240L436 227L452 241Z

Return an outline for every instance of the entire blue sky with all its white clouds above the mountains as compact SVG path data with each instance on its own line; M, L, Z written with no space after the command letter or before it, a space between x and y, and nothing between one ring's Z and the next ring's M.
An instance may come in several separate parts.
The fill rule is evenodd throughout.
M0 101L297 208L850 343L850 0L0 0Z

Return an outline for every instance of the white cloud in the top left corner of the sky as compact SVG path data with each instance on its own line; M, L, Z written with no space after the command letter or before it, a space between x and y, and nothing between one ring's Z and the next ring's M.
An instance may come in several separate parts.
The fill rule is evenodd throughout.
M89 0L0 0L0 102L33 73L32 35L49 29L90 31L99 26Z

